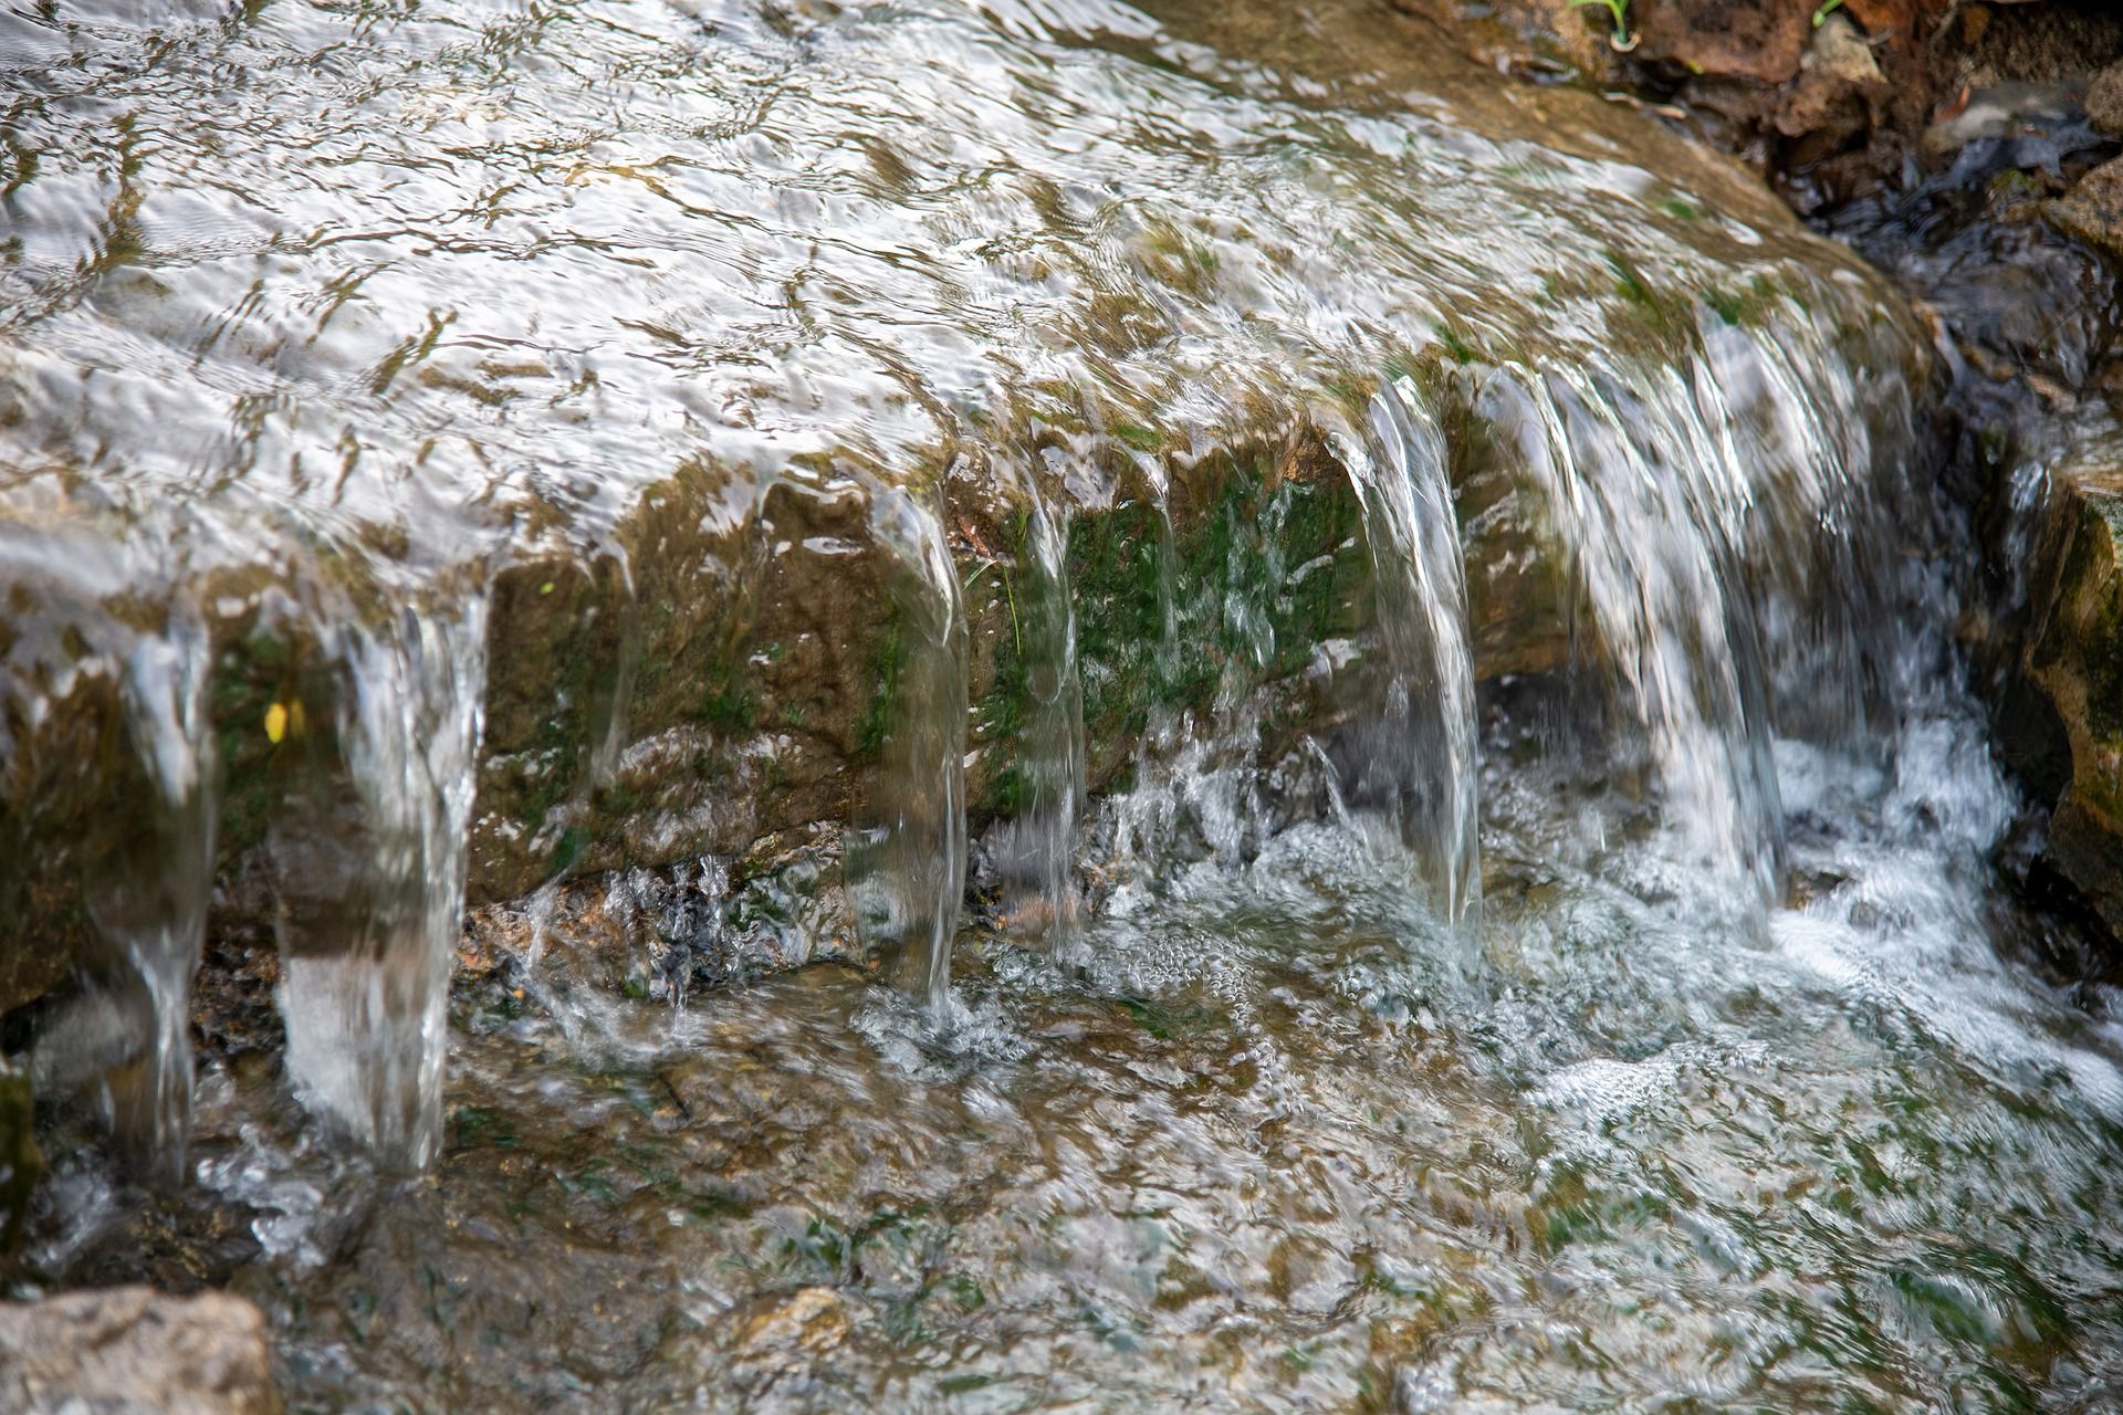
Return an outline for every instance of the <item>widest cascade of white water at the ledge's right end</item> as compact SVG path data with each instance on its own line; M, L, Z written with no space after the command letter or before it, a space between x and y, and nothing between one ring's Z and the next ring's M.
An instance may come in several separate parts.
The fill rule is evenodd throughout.
M1866 745L1898 658L1887 522L1909 448L1894 429L1875 443L1858 382L1788 312L1711 325L1677 367L1503 365L1473 388L1541 501L1669 827L1762 906L1785 857L1775 738Z

